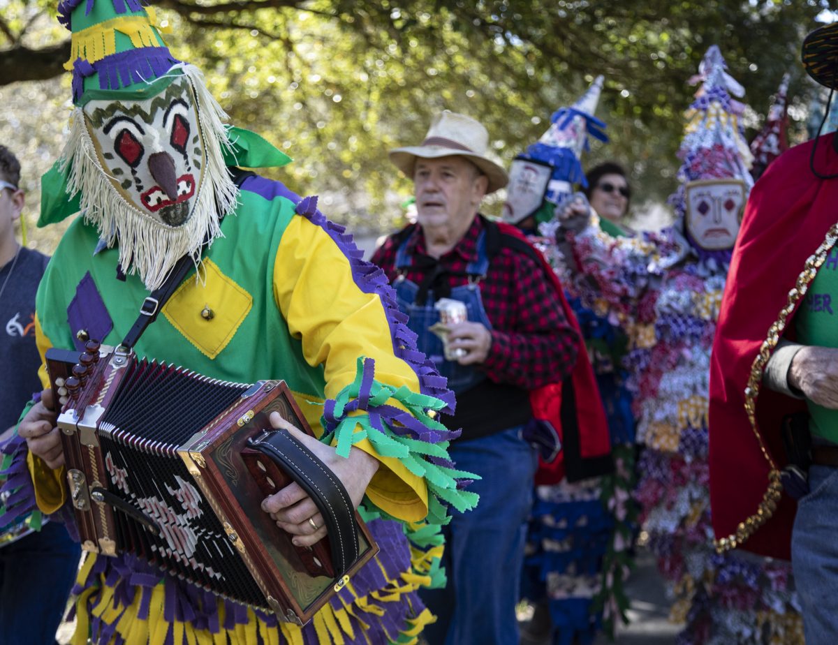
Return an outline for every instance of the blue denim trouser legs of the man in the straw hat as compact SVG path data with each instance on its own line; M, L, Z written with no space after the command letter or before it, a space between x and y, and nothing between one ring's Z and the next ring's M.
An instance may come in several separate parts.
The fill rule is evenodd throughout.
M480 501L473 511L452 510L443 527L448 576L445 589L420 591L437 615L422 636L431 645L515 645L515 603L524 560L526 521L532 505L535 450L521 426L472 441L453 441L458 469L483 479L468 490Z

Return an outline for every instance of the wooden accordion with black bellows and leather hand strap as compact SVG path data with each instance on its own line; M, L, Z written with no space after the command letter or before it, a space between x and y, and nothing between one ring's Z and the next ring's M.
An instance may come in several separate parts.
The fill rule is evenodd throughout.
M83 549L300 625L377 552L334 473L269 423L277 411L313 434L284 381L209 379L95 342L50 349L47 369ZM261 509L292 481L328 528L311 548Z

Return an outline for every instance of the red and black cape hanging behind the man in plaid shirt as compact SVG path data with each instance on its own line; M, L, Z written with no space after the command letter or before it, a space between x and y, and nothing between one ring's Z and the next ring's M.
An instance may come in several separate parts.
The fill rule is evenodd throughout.
M611 472L611 436L597 379L576 315L568 304L565 290L549 262L515 226L498 223L504 235L525 242L538 255L544 271L556 288L567 321L577 332L577 361L572 374L563 383L548 384L530 392L530 404L536 418L550 419L562 442L562 450L552 463L541 462L535 473L535 483L554 484L567 477L578 481Z

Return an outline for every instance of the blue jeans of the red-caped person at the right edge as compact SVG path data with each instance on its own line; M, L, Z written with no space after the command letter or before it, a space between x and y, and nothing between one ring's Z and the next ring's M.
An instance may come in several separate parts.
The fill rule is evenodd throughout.
M794 581L806 645L833 645L838 637L838 468L811 466L809 485L794 517Z

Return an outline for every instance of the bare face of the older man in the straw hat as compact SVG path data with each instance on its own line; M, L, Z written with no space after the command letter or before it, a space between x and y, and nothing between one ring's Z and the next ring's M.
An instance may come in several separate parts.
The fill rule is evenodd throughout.
M487 178L464 157L416 159L416 214L419 224L466 230L486 194Z

